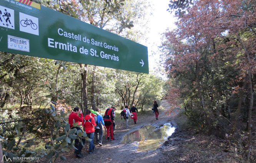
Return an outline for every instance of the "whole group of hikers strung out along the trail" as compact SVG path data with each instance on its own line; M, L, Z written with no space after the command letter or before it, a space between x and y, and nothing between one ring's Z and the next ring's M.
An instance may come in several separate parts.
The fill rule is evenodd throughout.
M158 119L158 105L156 101L154 101L153 108L156 119ZM152 110L153 110L152 108ZM68 123L70 124L70 128L76 128L76 130L82 129L79 127L81 124L84 128L84 131L86 132L86 135L88 138L90 138L92 141L89 143L89 153L93 153L95 151L95 145L93 144L93 138L95 136L95 140L98 143L98 145L102 146L102 138L103 138L103 127L105 128L106 132L106 140L115 140L114 138L114 130L115 130L115 107L111 107L106 109L104 116L100 114L100 109L96 108L95 110L92 109L86 109L85 116L83 117L82 111L79 109L79 107L75 107L71 114L68 117ZM128 117L130 116L131 119L133 119L134 123L136 124L137 121L137 113L138 109L133 104L133 107L131 107L131 112L129 110L129 106L126 105L123 111L121 112L121 119L125 119L126 123L126 129L129 128L128 126ZM80 114L80 117L78 116ZM78 125L75 127L73 126L74 123L78 122ZM77 133L77 132L76 132ZM81 138L81 142L85 144L85 139ZM75 155L78 158L81 158L83 155L81 154L81 150L83 148L83 145L79 142L79 139L75 139Z

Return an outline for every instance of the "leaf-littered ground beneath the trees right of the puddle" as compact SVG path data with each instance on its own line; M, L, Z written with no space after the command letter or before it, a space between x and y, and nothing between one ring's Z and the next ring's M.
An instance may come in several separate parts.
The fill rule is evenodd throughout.
M256 118L254 109L253 119ZM179 163L255 163L256 162L256 136L253 132L253 143L248 151L247 135L242 130L228 132L224 138L218 134L203 133L192 126L185 111L176 117L177 128L175 133L164 143L163 162ZM255 124L255 121L254 121ZM231 126L231 125L230 125ZM240 123L239 128L245 128Z

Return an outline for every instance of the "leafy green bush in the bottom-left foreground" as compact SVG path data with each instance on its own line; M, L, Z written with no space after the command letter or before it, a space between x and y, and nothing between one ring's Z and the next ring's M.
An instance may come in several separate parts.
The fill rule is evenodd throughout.
M47 110L47 112L40 109L39 112L35 113L38 122L31 119L28 122L21 120L15 123L6 122L2 124L1 137L4 140L2 148L5 155L12 159L14 156L43 157L46 154L47 160L52 159L54 162L59 153L75 148L73 143L76 138L80 139L83 136L86 140L91 141L86 137L85 132L77 132L75 128L70 130L69 123L65 121L67 118L63 117L63 115L66 115L63 111L57 111L52 104L50 104L50 108L44 110ZM6 117L6 114L3 115ZM33 125L32 130L25 129L29 125ZM73 125L78 126L77 123ZM46 128L46 126L49 128ZM35 130L46 131L50 134L50 141L46 142L45 149L36 152L31 148L35 144L36 138L27 139L28 135L35 132ZM61 159L65 160L65 157L62 156Z

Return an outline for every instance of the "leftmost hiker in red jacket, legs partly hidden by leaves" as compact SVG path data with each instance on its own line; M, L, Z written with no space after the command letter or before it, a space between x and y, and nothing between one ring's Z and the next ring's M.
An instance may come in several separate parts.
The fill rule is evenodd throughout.
M78 113L80 113L80 117L77 115ZM73 112L71 112L71 114L68 117L68 123L69 123L71 129L76 128L76 130L81 130L81 128L78 126L73 127L73 123L76 123L76 122L78 122L78 125L80 125L80 122L83 122L83 114L82 114L82 111L79 109L79 107L75 107L73 109ZM81 130L81 131L83 132L83 130ZM85 144L85 139L82 138L82 142L83 142L83 144ZM79 143L79 139L77 139L77 138L75 139L75 147L77 149L74 152L75 155L77 157L81 158L82 157L81 150L83 148L83 145L81 143Z

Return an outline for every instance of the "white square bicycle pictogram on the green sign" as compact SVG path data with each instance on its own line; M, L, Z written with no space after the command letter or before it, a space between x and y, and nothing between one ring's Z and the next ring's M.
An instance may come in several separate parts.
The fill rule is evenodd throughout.
M20 31L39 36L38 18L20 12Z

